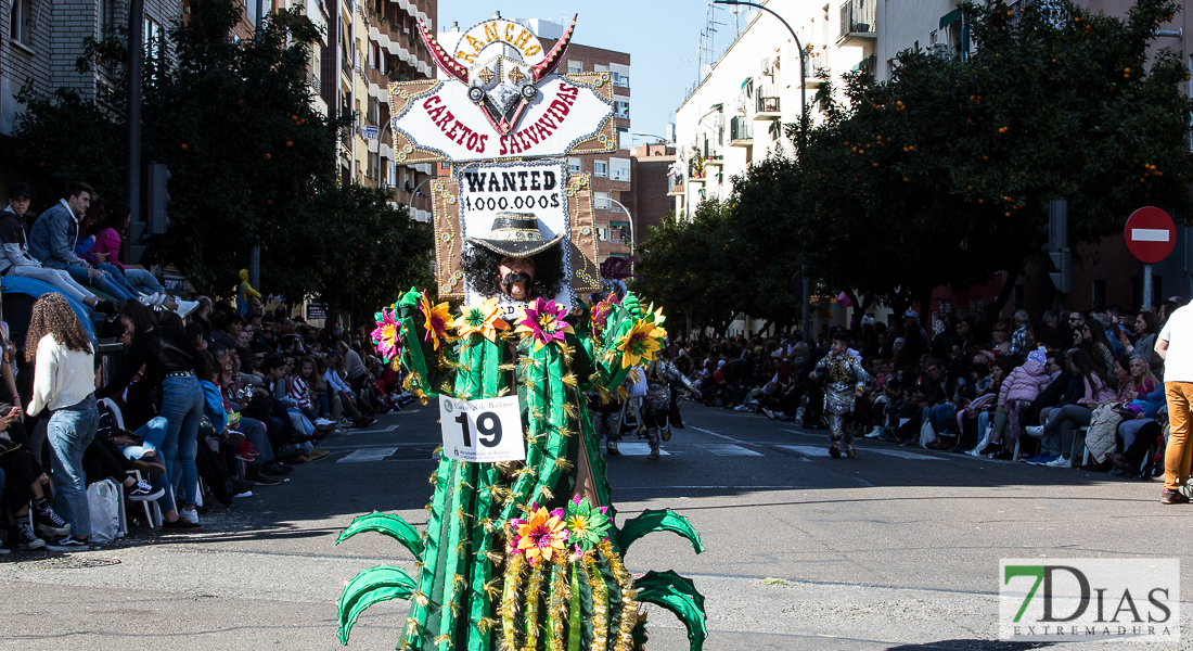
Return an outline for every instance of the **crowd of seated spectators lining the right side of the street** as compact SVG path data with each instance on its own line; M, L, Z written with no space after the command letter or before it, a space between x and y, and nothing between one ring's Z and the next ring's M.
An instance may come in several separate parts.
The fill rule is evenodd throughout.
M869 373L846 425L858 436L1150 478L1163 472L1168 431L1154 348L1181 305L1174 297L1156 313L1108 306L1034 320L1019 309L996 323L933 319L931 332L908 311L889 325L869 315L816 342L799 331L676 337L669 356L707 405L826 429L824 375L815 369L845 332Z

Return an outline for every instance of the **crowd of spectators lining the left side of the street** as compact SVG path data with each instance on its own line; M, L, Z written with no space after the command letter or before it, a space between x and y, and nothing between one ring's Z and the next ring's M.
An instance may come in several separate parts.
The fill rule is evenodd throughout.
M334 319L320 328L255 297L169 295L118 262L126 207L105 210L84 184L67 195L30 226L29 189L14 184L0 213L0 274L49 283L33 321L50 311L57 324L11 337L0 321L0 554L89 548L85 492L109 479L130 520L143 511L134 503L156 502L163 533L199 532L216 504L289 481L327 456L328 436L413 399L369 338ZM97 340L60 296L105 315ZM99 355L97 343L122 345Z

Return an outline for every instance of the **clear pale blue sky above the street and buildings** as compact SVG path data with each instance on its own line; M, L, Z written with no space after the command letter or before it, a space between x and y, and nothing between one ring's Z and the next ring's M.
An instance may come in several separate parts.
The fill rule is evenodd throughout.
M705 0L440 0L437 31L452 23L466 30L495 11L507 19L552 23L579 13L576 43L630 54L630 131L666 135L675 108L696 82L706 7ZM728 23L715 39L724 50L734 39L734 20L729 11L717 13Z

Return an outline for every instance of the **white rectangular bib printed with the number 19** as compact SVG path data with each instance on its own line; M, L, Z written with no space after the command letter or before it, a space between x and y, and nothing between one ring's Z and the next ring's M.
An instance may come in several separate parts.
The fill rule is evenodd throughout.
M517 395L481 400L440 395L439 423L449 459L487 463L526 459Z

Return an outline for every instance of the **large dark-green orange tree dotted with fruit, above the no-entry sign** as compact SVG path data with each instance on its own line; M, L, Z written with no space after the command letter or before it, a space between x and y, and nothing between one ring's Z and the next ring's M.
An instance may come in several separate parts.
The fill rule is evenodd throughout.
M1025 5L963 4L965 59L904 51L890 81L847 76L843 104L823 88L803 151L736 179L737 231L756 251L786 242L827 288L900 308L1003 270L1005 301L1055 197L1073 242L1119 232L1139 205L1188 215L1188 72L1148 53L1177 4L1139 0L1125 20Z

